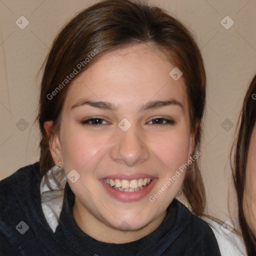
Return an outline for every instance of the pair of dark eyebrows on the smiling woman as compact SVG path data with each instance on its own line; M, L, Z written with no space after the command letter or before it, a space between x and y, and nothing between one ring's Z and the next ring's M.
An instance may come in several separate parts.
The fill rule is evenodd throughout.
M97 108L101 108L101 109L108 109L111 111L116 111L119 109L119 107L106 102L106 101L94 101L94 100L87 100L87 99L82 99L80 100L78 103L74 104L73 106L71 106L71 109L74 109L77 106L82 106L82 105L89 105L92 107L97 107ZM168 106L168 105L176 105L182 108L182 110L184 109L183 105L175 100L175 99L168 99L168 100L154 100L154 101L148 101L146 104L142 105L139 109L140 111L146 111L152 108L159 108L159 107L163 107L163 106Z

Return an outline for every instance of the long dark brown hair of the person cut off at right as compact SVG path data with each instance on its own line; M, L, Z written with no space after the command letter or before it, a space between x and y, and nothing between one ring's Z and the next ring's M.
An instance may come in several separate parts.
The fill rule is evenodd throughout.
M254 95L254 97L253 97ZM231 150L233 183L237 195L238 218L243 240L249 256L255 255L256 238L246 223L242 207L245 189L247 155L251 132L256 120L256 75L253 77L245 94L239 116L239 130ZM238 127L237 124L237 127ZM232 158L233 156L233 158Z

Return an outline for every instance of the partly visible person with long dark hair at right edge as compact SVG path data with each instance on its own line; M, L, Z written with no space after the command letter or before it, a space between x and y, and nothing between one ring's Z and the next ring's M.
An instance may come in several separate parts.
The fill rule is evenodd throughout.
M239 223L249 256L256 255L256 75L253 77L240 113L234 143L233 180L237 193Z

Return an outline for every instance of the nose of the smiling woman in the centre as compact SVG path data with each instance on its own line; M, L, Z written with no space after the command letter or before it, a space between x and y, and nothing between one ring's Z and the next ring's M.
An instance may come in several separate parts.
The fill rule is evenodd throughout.
M113 160L133 166L149 158L145 136L142 136L142 131L139 132L135 125L131 125L126 131L119 129L115 140L111 149Z

